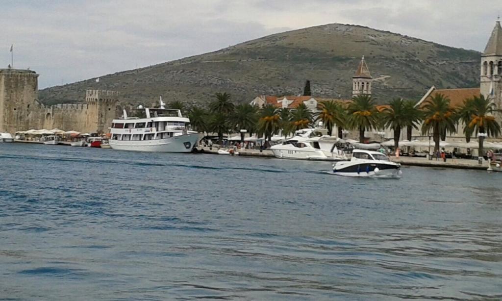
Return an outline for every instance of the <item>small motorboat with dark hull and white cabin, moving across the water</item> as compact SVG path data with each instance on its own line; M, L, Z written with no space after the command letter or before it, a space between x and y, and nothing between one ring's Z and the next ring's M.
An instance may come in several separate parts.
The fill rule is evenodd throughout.
M333 164L335 175L347 177L400 178L401 164L386 155L365 149L354 149L350 161Z

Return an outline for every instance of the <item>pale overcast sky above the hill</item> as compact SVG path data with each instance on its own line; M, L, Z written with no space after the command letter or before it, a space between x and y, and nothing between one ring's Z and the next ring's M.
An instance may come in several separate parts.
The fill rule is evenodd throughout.
M330 23L482 51L502 14L500 0L0 0L0 7L0 68L14 44L14 67L39 73L39 88Z

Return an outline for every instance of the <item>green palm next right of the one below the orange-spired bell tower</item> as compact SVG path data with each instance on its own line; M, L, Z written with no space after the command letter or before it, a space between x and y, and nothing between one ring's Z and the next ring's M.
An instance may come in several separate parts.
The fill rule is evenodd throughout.
M418 120L414 117L418 116L419 111L414 106L407 104L403 98L396 98L382 112L382 123L384 127L390 127L394 130L394 148L399 147L399 137L401 137L401 129L408 126L409 128L418 128ZM409 139L410 140L410 139Z

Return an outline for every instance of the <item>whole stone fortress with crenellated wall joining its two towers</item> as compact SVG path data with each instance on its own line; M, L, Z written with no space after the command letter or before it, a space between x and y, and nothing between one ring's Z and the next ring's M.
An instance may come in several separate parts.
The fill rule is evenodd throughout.
M120 93L86 90L85 103L45 106L38 101L38 74L30 70L0 69L0 132L28 129L108 132L120 116Z

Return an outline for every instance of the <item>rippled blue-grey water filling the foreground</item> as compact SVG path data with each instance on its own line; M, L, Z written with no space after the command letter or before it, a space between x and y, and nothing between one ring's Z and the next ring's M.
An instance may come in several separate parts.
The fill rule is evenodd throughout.
M0 144L0 299L502 299L502 173Z

